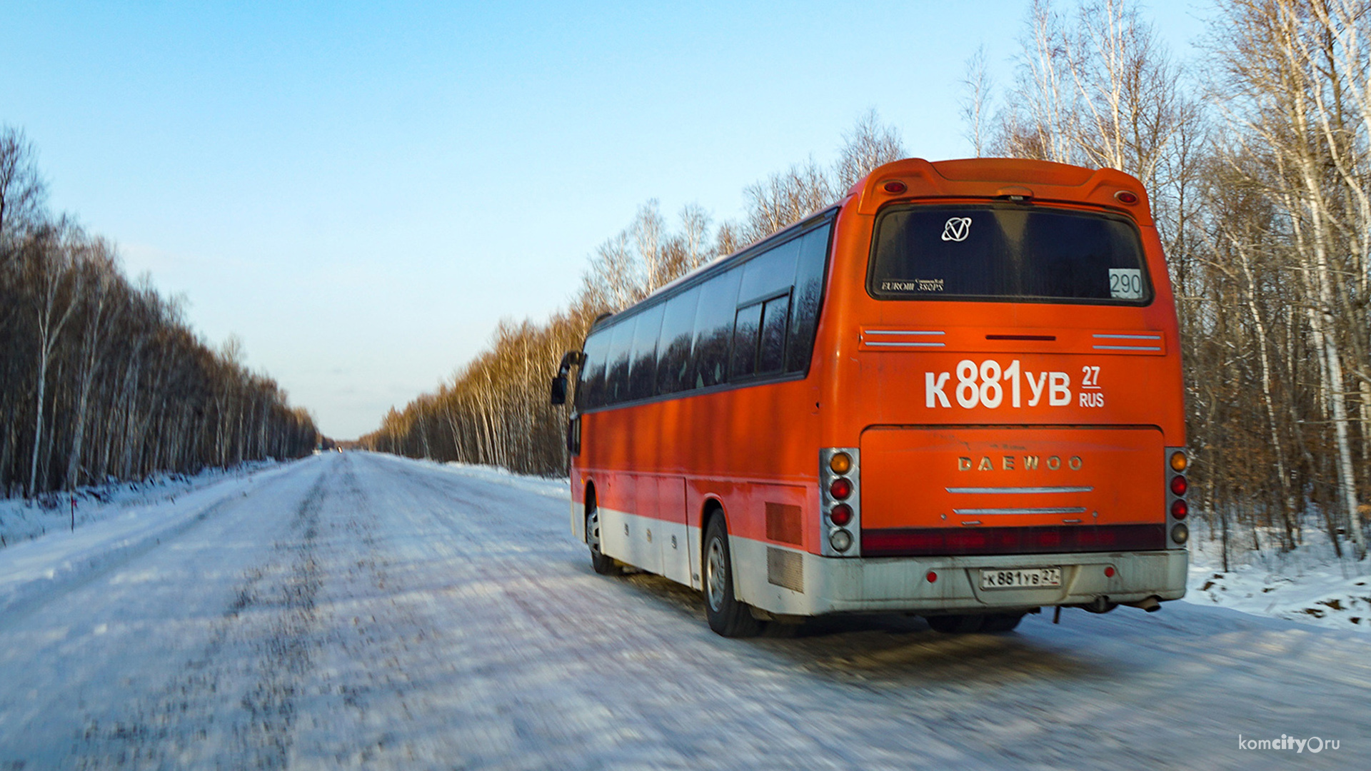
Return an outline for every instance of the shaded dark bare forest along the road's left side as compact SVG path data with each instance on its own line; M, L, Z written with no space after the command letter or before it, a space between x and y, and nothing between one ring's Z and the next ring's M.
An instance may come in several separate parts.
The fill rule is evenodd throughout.
M307 454L314 420L230 339L129 281L118 250L47 210L37 151L0 128L0 491L78 486Z

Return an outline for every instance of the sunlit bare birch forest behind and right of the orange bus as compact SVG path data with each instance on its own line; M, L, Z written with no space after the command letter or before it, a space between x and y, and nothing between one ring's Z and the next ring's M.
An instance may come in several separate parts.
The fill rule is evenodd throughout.
M1371 7L1215 0L1198 12L1206 33L1182 60L1138 3L1038 0L1013 78L994 82L976 54L961 115L947 121L961 121L975 155L1116 167L1149 189L1182 325L1193 510L1222 538L1224 569L1230 553L1315 538L1361 560L1371 516ZM899 132L871 112L832 165L810 158L749 185L738 220L716 225L696 206L666 217L647 202L590 255L563 310L542 324L502 322L474 361L392 409L362 444L565 473L566 412L547 403L547 380L598 314L834 203L906 155ZM40 362L45 333L34 329L30 359ZM70 383L82 398L80 379Z

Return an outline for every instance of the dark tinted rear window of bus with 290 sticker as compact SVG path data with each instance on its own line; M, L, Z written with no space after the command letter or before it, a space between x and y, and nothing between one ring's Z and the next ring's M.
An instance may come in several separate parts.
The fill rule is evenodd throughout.
M887 209L866 287L890 300L1152 302L1132 222L1021 204Z

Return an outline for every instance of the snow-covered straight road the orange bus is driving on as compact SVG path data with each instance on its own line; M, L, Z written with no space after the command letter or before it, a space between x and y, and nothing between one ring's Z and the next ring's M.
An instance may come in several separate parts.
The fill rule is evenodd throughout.
M0 550L0 771L1371 766L1353 634L1172 602L729 641L681 587L592 573L565 497L433 464L169 506Z

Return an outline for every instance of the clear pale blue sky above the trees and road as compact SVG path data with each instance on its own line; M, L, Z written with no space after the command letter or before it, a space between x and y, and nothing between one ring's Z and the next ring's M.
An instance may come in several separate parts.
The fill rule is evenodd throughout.
M1028 3L0 7L0 122L52 209L354 438L565 305L650 198L738 217L872 107L969 155L965 60L1006 84ZM1198 7L1150 4L1178 54Z

